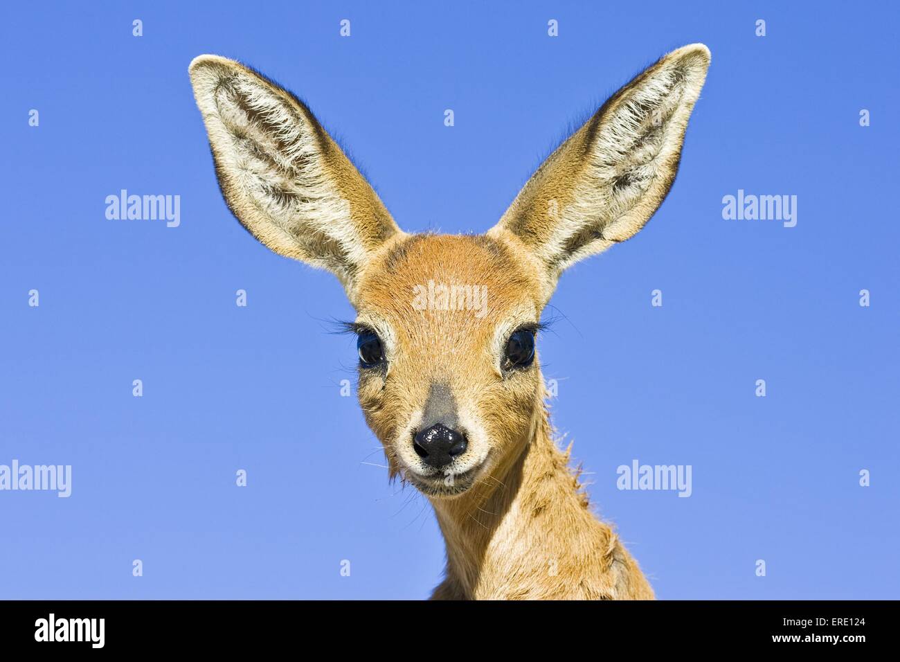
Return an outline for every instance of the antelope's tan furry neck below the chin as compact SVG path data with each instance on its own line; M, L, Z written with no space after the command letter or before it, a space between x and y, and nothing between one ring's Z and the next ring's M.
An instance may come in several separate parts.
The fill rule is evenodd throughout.
M653 599L556 448L543 406L522 450L462 496L432 500L446 541L437 599Z

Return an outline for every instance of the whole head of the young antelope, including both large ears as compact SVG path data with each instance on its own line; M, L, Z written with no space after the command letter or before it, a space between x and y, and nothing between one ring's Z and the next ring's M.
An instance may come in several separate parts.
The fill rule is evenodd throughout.
M231 211L269 249L340 279L357 312L366 421L392 474L439 503L490 489L535 439L541 312L564 268L660 206L708 64L695 44L635 77L481 236L401 231L291 93L216 56L190 73Z

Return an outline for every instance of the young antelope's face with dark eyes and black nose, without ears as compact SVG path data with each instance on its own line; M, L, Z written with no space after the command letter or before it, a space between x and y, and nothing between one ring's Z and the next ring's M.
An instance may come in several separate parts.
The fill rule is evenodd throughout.
M541 407L541 286L516 247L416 235L360 281L359 401L392 474L461 494L517 455Z

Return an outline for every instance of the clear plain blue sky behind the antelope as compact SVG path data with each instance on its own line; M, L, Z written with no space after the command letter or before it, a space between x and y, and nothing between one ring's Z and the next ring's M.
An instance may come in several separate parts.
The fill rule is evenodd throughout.
M214 6L4 7L0 464L71 465L73 485L0 492L0 597L423 598L440 580L430 506L372 466L340 395L355 346L326 321L352 308L230 216L193 57L305 99L405 230L460 232L695 41L713 61L671 194L551 302L554 422L659 597L898 596L896 6ZM180 195L180 225L107 220L123 188ZM797 195L797 226L724 220L739 189ZM617 490L633 459L690 465L693 494Z

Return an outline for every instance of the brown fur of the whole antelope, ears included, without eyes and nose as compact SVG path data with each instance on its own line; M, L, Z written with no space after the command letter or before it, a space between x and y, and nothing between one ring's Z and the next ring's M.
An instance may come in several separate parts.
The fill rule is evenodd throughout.
M359 401L392 476L428 495L446 540L436 599L651 599L557 448L538 358L504 366L510 334L539 321L559 274L626 240L675 177L709 52L676 50L623 87L551 155L486 235L406 234L293 95L231 60L191 66L222 193L267 246L329 268L385 360ZM483 310L422 308L429 281L484 287ZM425 467L412 438L429 393L448 394L468 448Z

